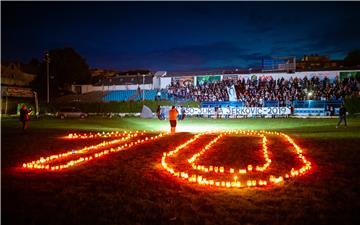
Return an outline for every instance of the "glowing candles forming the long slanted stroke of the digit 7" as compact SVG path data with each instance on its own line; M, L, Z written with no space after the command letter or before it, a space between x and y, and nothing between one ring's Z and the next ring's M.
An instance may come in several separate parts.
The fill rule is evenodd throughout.
M112 141L108 141L108 142L104 141L100 144L87 146L87 147L84 147L79 150L71 150L71 151L67 151L65 153L54 154L54 155L50 155L47 157L40 157L40 159L38 159L38 160L28 162L28 163L23 163L22 167L25 169L38 169L38 170L47 170L47 171L59 171L59 170L63 170L63 169L68 169L70 167L77 166L82 162L88 162L93 159L100 158L105 155L109 155L114 152L126 150L135 145L144 144L149 141L156 140L156 139L162 137L164 134L160 133L158 135L151 136L151 137L142 137L142 138L134 140L130 143L123 143L120 146L116 146L116 147L112 147L110 149L104 150L104 148L106 148L106 147L117 145L120 142L127 141L131 138L140 137L141 135L144 135L144 132L139 132L139 131L124 132L124 133L122 133L121 138L118 138L118 139L115 139ZM71 158L74 157L74 155L75 156L83 155L83 156L80 156L77 159L70 160ZM65 163L55 164L58 161L66 160L68 158L70 158L70 159L68 161L66 161Z

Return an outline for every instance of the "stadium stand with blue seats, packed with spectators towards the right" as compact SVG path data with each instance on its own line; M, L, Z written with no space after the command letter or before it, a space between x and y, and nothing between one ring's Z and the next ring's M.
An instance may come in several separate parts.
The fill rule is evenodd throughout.
M304 73L299 73L300 76L287 73L265 76L217 74L214 77L219 79L210 79L212 75L174 77L174 74L168 76L162 72L160 77L132 75L106 78L98 84L102 87L89 85L84 89L103 90L99 95L104 102L144 99L170 100L176 105L184 105L192 100L199 102L201 108L286 107L292 114L322 116L336 114L346 96L359 96L359 74L358 71L321 71L309 73L309 78ZM73 101L85 100L78 96L75 98Z

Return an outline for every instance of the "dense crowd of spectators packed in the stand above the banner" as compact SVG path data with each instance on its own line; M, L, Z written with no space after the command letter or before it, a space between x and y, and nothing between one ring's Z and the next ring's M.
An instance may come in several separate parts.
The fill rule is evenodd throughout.
M280 106L289 106L293 100L341 100L345 96L358 95L360 80L336 77L331 81L319 77L281 79L231 79L215 82L204 82L194 86L187 83L171 83L168 95L174 98L192 99L195 101L228 101L227 88L235 87L238 101L248 107L261 107L265 101L279 101Z

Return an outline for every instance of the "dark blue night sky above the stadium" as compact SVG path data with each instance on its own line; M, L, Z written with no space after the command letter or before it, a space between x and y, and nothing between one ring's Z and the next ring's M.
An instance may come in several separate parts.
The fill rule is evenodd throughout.
M91 68L192 70L360 48L360 2L2 2L2 60L73 47Z

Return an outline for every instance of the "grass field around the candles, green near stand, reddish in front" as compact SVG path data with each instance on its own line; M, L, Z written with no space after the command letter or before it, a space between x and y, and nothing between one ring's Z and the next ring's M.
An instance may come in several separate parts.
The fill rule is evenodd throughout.
M168 121L32 120L22 133L18 120L3 118L1 224L359 224L360 119L348 119L348 128L336 129L336 123L337 119L186 119L178 123L180 132L175 135L67 171L39 172L19 167L98 142L59 138L70 132L157 132L168 129ZM303 148L313 168L279 185L230 190L189 184L162 169L163 152L185 142L192 132L226 129L284 132ZM204 163L255 160L257 153L246 149L254 139L239 140L226 140L214 157L204 157ZM282 147L276 145L270 141L269 151L280 152ZM285 156L279 160L288 162Z

